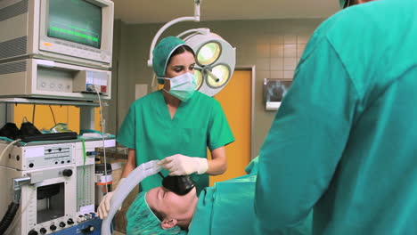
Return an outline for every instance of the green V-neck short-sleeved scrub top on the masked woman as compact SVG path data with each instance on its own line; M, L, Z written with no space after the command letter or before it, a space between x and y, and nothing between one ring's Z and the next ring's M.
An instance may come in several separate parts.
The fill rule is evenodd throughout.
M168 111L162 92L150 93L135 101L120 127L117 141L136 150L136 166L175 154L207 158L207 148L216 150L234 141L220 103L195 92L181 102L174 118ZM162 174L168 175L163 170ZM192 174L200 192L208 186L208 174ZM142 190L161 185L159 174L141 182Z

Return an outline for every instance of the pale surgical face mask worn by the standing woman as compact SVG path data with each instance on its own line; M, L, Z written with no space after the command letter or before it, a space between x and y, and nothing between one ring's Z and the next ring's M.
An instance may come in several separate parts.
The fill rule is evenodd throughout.
M167 77L160 77L165 80L169 80L171 83L171 89L169 92L165 90L167 93L174 95L176 98L180 99L180 101L188 101L192 97L192 94L195 92L195 88L197 87L197 82L194 79L192 73L184 73L182 75L167 78Z

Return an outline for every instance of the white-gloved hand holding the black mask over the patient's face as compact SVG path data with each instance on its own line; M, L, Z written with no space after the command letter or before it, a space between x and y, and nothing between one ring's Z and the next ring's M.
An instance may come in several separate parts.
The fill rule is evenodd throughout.
M158 165L167 169L170 172L169 175L204 174L208 170L206 158L192 158L182 154L163 158Z

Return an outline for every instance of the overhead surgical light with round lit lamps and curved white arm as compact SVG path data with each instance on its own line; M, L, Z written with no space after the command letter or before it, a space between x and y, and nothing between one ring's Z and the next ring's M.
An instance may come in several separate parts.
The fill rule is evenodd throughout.
M160 28L155 37L153 37L148 66L152 65L152 51L163 31L177 22L187 20L200 21L200 0L194 0L194 4L194 17L182 17L171 20ZM225 85L227 85L233 75L236 65L236 49L221 36L211 33L208 28L189 29L178 35L178 37L182 38L187 45L190 45L196 54L194 70L194 78L197 83L196 90L208 96L214 96L225 88Z

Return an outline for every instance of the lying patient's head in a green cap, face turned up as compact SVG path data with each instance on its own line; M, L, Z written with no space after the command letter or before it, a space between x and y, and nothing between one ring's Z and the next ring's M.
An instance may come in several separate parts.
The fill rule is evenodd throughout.
M197 201L195 188L184 196L163 187L141 192L127 211L127 234L185 234Z

